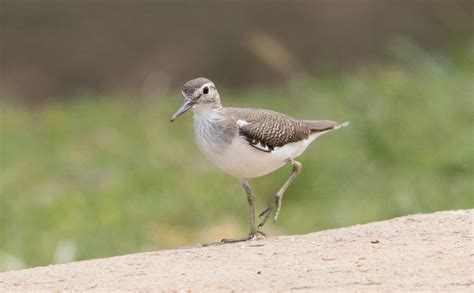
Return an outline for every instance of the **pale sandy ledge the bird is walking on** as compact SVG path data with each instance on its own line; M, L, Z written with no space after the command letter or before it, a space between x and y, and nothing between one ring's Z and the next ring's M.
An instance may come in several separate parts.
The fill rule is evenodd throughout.
M474 210L0 273L0 291L474 291Z

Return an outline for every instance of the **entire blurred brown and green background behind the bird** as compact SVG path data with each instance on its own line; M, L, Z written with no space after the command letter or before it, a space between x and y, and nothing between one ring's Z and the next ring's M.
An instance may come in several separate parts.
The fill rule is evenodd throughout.
M474 206L473 1L0 1L0 270L247 233L189 79L227 106L350 121L271 235ZM289 168L251 181L258 210Z

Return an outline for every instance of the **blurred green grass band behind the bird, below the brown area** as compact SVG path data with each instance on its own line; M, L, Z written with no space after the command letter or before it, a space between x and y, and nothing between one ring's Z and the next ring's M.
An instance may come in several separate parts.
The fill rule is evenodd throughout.
M343 76L219 88L227 106L351 122L300 157L280 219L264 231L473 207L473 46L394 52ZM180 103L179 90L138 101L84 94L39 108L2 97L0 270L247 233L244 193L199 153L191 115L169 123ZM289 172L251 181L258 210Z

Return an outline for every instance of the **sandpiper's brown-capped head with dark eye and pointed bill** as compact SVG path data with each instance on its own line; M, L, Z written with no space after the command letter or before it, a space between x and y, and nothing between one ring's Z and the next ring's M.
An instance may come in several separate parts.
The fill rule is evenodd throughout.
M173 117L171 117L171 122L188 110L213 108L221 105L216 86L212 81L204 77L195 78L186 82L181 93L184 97L184 103Z

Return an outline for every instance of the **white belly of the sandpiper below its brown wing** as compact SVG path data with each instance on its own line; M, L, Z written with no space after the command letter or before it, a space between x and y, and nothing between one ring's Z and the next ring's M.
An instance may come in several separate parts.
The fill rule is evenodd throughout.
M306 149L313 138L275 148L271 153L257 150L243 138L237 137L228 145L212 145L196 137L204 156L225 173L237 178L254 178L281 168Z

